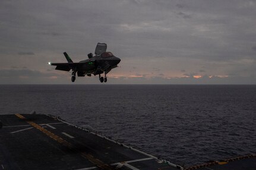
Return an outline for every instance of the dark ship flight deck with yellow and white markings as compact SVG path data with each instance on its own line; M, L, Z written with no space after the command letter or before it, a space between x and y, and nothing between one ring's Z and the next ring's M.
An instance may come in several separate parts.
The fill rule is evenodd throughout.
M256 155L183 167L45 114L0 120L0 169L256 169Z

